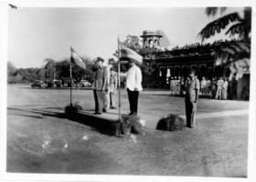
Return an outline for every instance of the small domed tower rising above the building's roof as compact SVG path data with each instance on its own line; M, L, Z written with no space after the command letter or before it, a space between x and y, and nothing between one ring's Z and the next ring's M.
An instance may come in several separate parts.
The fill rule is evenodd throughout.
M160 38L163 37L160 35L159 31L148 31L143 32L143 47L144 48L153 48L154 46L160 45Z

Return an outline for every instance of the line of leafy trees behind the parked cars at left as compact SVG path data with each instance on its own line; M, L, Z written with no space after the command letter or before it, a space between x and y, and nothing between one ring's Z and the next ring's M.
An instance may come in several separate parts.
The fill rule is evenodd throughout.
M86 64L86 69L82 69L79 66L71 64L72 79L77 83L82 79L86 79L89 82L93 80L93 72L91 67L94 65L89 57L82 57ZM70 77L70 58L55 61L52 58L46 58L46 63L42 67L31 68L19 68L17 69L11 62L7 63L7 83L8 84L26 84L31 83L34 80L52 81L54 78L58 80L64 79L65 82Z

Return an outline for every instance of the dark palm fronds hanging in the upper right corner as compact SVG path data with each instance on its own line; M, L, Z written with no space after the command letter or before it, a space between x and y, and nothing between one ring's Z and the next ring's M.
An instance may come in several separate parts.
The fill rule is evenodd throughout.
M208 7L206 14L208 16L216 15L220 10L222 14L226 7ZM242 12L235 12L224 15L219 19L206 25L198 36L202 42L221 30L229 27L226 35L234 37L239 35L239 41L230 42L229 44L219 45L212 51L212 56L216 58L216 65L227 66L230 69L230 76L236 75L239 79L245 73L250 73L251 65L251 7L244 7Z

